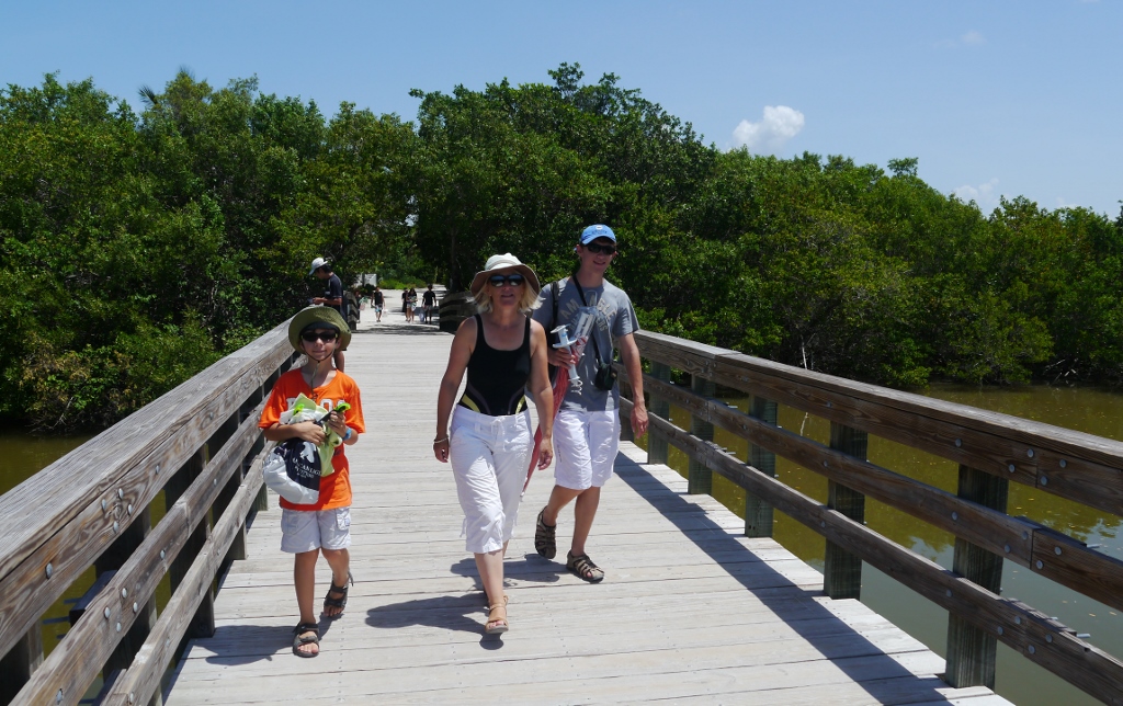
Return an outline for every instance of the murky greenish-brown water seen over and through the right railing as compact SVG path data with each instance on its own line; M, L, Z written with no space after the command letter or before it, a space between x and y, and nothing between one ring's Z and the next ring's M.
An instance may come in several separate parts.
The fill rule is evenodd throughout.
M1058 427L1123 440L1123 394L1087 388L1052 388L1046 386L1016 389L977 389L934 386L933 397L976 407L1004 412ZM725 397L746 410L746 398ZM672 409L673 421L690 428L690 415ZM791 407L779 407L779 425L800 432L821 443L830 441L830 422ZM714 441L748 458L748 443L722 430ZM869 438L869 460L911 478L944 490L956 492L958 465L916 451L909 447ZM670 465L686 475L686 456L670 449ZM827 501L827 479L784 459L777 459L780 480L800 492ZM724 478L714 476L714 496L727 507L743 516L745 492ZM1123 559L1123 535L1117 515L1101 513L1076 503L1057 498L1017 483L1010 484L1007 512L1062 531L1099 551ZM870 529L907 547L943 567L951 568L955 538L871 498L866 499L866 521ZM802 524L776 513L775 538L801 559L820 571L823 567L825 540ZM1013 562L1005 562L1002 595L1015 597L1033 607L1057 616L1080 633L1090 633L1089 642L1115 657L1123 657L1123 617L1119 612L1058 586ZM944 654L948 613L922 598L869 565L862 567L861 602L880 613L930 649ZM1069 686L1051 672L1041 669L999 643L996 690L1015 704L1098 704L1099 702Z

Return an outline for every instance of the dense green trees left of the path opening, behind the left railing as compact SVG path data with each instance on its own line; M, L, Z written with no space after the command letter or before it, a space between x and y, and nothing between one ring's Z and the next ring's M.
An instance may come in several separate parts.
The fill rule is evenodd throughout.
M313 257L349 278L405 237L396 118L184 72L140 94L0 91L0 415L111 423L291 315Z

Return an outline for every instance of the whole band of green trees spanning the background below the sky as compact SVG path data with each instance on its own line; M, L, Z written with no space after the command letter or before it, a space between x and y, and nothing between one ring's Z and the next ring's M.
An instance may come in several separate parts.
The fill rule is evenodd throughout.
M989 214L844 156L722 153L576 64L551 83L414 91L417 123L213 89L143 110L92 81L0 91L0 415L104 425L346 282L544 279L611 224L645 328L894 386L1123 382L1123 212ZM30 402L29 402L30 401Z

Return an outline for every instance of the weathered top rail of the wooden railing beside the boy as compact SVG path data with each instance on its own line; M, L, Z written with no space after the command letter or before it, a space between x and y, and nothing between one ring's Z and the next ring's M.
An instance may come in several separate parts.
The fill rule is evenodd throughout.
M131 523L129 508L147 506L223 412L291 357L282 340L279 327L0 496L0 644L26 633Z

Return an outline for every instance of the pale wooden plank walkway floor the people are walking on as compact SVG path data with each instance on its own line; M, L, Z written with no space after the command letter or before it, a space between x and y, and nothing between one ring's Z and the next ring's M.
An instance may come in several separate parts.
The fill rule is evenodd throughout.
M387 293L392 305L398 293ZM369 432L348 450L355 492L346 614L321 621L316 659L291 653L292 560L280 511L257 515L248 556L216 603L218 630L194 640L165 703L1005 704L952 689L943 660L857 600L822 596L822 577L770 539L622 443L590 542L604 567L587 585L533 551L553 473L530 484L506 560L511 631L484 636L483 593L460 539L448 466L430 450L450 337L365 312L347 355ZM572 512L563 514L564 557ZM320 562L318 595L330 574Z

